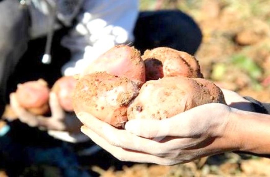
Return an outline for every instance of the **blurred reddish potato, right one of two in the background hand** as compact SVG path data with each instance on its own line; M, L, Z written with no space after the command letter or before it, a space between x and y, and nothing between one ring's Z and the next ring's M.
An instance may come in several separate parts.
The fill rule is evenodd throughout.
M60 106L68 112L73 111L72 93L76 82L73 76L63 76L52 86L52 91L56 93Z

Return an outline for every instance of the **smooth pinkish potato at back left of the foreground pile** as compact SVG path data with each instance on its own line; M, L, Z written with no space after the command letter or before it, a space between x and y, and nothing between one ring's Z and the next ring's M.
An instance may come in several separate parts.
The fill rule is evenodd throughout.
M145 66L141 53L128 45L117 45L93 61L81 74L106 71L108 74L127 77L145 83Z

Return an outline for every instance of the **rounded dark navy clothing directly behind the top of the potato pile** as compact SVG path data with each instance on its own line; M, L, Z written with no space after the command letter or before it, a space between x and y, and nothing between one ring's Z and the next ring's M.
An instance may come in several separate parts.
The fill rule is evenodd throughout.
M190 16L178 10L141 12L134 35L134 46L141 52L170 47L193 55L202 40L199 26Z

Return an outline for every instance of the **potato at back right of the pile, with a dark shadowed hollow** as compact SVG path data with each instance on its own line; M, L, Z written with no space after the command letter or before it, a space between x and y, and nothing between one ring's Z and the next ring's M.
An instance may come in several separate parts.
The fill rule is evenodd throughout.
M169 76L203 78L198 61L187 52L158 47L146 50L142 59L146 67L146 80Z

